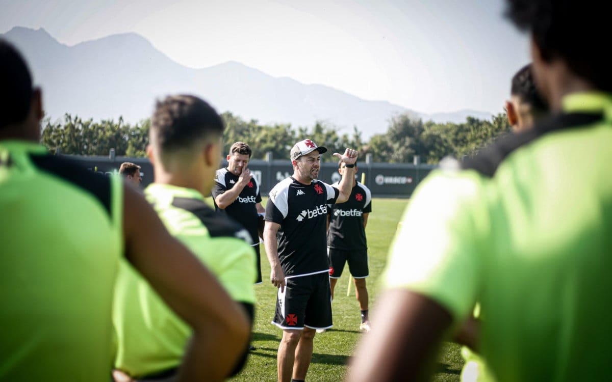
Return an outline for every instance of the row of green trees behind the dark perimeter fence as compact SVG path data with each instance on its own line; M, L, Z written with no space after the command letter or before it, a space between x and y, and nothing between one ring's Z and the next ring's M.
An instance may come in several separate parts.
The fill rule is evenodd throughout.
M473 155L501 134L510 131L506 116L498 114L491 120L468 117L464 123L435 123L398 115L389 121L386 133L375 134L368 141L353 128L350 134L338 134L333 126L316 122L312 128L292 128L289 124L264 125L257 120L245 121L231 112L222 114L225 120L223 134L224 151L236 141L247 142L253 149L254 159L263 159L267 152L274 158L288 158L293 144L302 139L312 139L324 145L330 152L343 152L354 147L365 158L371 153L376 162L411 163L415 155L430 164L436 164L444 156L461 158ZM118 156L145 156L150 120L130 125L122 118L113 120L83 120L65 114L64 120L43 123L42 143L51 152L76 155L108 155L111 148ZM334 161L331 155L324 160Z

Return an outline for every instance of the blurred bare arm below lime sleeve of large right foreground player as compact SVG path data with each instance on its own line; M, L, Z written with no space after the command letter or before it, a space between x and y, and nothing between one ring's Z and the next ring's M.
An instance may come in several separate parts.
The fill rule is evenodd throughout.
M452 318L435 301L403 289L379 298L373 329L351 361L349 382L424 381L435 368Z

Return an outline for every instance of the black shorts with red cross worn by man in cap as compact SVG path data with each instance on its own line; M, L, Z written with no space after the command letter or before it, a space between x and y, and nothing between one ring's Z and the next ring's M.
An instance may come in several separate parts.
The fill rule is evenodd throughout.
M285 279L285 292L278 288L272 323L282 329L327 329L332 327L332 293L329 274L315 273Z

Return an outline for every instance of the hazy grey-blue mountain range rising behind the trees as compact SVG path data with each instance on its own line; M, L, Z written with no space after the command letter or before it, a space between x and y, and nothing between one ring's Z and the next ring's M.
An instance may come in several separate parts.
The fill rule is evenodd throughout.
M69 112L84 119L138 122L150 116L154 100L167 94L198 95L217 111L231 111L261 123L312 127L319 120L340 133L356 126L364 138L387 131L393 116L406 113L435 122L490 119L488 112L462 110L424 114L387 101L368 101L321 84L275 78L239 62L194 69L172 61L135 33L116 34L73 46L44 29L15 27L6 38L26 57L35 84L43 89L52 120Z

